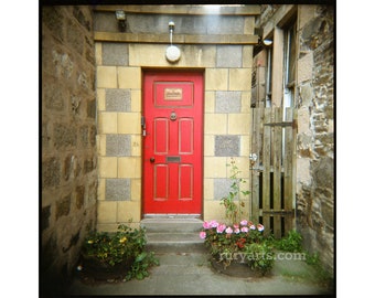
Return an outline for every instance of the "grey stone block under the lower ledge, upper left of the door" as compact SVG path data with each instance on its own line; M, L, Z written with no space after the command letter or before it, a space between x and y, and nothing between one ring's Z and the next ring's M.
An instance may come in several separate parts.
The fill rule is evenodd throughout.
M125 66L129 64L127 43L104 42L101 55L103 65Z

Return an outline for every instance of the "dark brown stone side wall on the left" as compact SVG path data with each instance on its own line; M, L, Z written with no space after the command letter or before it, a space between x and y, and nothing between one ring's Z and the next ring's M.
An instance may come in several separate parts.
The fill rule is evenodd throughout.
M93 17L88 7L43 7L41 18L41 285L58 290L96 225Z

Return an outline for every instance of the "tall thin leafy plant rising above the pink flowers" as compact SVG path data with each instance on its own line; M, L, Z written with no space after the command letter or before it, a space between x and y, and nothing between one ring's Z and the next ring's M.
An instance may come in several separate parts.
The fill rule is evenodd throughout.
M240 173L236 161L232 158L231 163L227 164L231 167L231 177L232 180L229 193L221 199L221 204L225 206L225 216L232 223L239 222L239 217L243 216L242 209L245 207L244 201L240 200L240 194L248 195L249 191L240 190L240 184L246 181L242 178L238 178Z

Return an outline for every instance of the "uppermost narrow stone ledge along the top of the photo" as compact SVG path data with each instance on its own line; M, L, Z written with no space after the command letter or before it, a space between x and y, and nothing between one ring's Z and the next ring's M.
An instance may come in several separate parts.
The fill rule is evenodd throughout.
M95 11L115 12L124 10L126 13L158 13L158 14L222 14L222 15L258 15L260 6L221 6L210 9L210 6L97 6Z

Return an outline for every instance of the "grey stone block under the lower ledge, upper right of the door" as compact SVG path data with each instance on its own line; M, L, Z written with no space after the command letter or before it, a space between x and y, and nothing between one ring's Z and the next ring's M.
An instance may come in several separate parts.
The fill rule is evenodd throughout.
M243 46L242 45L217 45L216 67L242 67Z

